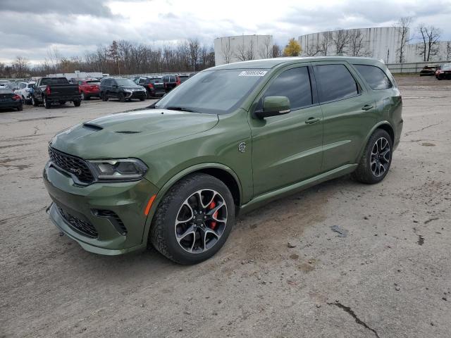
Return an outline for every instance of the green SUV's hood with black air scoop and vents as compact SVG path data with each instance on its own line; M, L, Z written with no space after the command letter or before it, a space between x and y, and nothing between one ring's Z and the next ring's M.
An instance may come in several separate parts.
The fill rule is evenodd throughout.
M218 115L147 109L107 115L64 130L55 149L82 158L139 157L152 146L197 134L218 123Z

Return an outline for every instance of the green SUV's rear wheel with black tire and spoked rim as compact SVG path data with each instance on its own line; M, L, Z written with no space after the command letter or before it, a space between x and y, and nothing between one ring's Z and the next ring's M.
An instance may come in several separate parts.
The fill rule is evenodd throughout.
M387 150L388 152L386 152ZM376 129L369 138L359 166L352 176L357 181L366 184L381 182L390 170L392 154L392 138L385 130Z

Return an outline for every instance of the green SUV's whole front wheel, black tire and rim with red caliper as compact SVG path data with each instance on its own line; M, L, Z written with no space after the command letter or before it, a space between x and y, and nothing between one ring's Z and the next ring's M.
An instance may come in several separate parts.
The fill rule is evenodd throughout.
M198 192L201 192L204 201L209 201L206 208L200 207L204 202L198 203ZM193 201L194 204L191 204ZM190 208L189 204L192 205ZM180 217L180 213L187 215ZM209 220L204 220L207 215ZM184 220L185 217L188 222L176 224L176 220ZM161 200L152 220L149 244L175 263L196 264L221 249L234 223L235 204L226 184L211 175L192 174L174 184ZM187 229L194 229L199 237L193 236ZM176 233L186 235L180 235L178 240Z

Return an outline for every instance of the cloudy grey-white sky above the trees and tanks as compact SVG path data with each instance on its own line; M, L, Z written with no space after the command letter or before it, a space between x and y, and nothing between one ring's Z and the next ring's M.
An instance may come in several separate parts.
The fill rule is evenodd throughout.
M38 63L55 47L83 56L113 39L161 45L198 38L212 46L215 37L271 34L286 44L337 27L391 26L404 15L414 17L411 31L426 23L451 39L451 0L0 0L0 62L25 56Z

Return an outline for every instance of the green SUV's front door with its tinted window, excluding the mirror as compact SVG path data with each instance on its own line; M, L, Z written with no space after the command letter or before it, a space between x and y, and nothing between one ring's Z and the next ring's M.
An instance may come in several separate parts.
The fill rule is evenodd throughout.
M290 113L258 119L250 116L254 196L313 177L321 170L323 115L308 65L291 65L266 84L266 96L287 96Z

